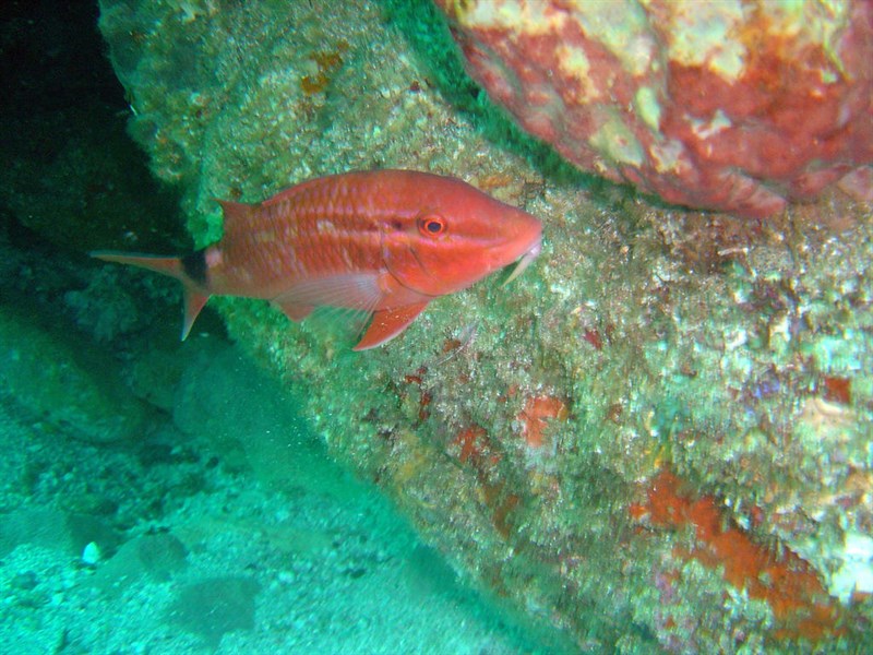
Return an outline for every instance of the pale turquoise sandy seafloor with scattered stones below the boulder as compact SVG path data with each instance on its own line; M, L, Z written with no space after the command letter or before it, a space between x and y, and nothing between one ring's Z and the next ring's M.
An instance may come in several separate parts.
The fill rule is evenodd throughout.
M169 419L145 439L93 445L0 404L0 653L536 650L311 449L304 486L278 485Z

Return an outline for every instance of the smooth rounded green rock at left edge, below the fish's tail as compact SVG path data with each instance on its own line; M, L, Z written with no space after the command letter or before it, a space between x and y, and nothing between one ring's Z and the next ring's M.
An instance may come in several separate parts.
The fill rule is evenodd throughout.
M22 305L0 306L0 398L89 443L142 434L145 407L108 355Z

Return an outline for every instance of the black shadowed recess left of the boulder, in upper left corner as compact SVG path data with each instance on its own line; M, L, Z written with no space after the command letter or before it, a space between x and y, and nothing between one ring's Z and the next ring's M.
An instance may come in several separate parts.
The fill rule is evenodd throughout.
M108 238L147 249L177 239L178 199L125 134L127 105L93 31L93 3L3 16L0 207L44 239L88 250ZM16 20L13 20L15 16ZM181 241L181 239L180 239Z

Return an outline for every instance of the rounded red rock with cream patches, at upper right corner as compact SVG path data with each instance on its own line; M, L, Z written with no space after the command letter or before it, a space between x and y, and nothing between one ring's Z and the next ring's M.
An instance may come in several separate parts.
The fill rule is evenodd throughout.
M471 74L581 168L745 216L873 198L873 4L435 0Z

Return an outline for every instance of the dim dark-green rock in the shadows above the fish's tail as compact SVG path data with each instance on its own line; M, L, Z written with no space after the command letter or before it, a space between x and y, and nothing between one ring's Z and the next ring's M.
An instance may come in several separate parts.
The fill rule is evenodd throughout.
M85 251L107 239L145 250L182 242L176 193L159 188L140 157L131 157L123 122L104 107L69 116L69 135L47 143L31 123L8 129L0 145L2 205L56 246ZM57 136L56 136L57 138ZM143 193L144 190L147 192Z

